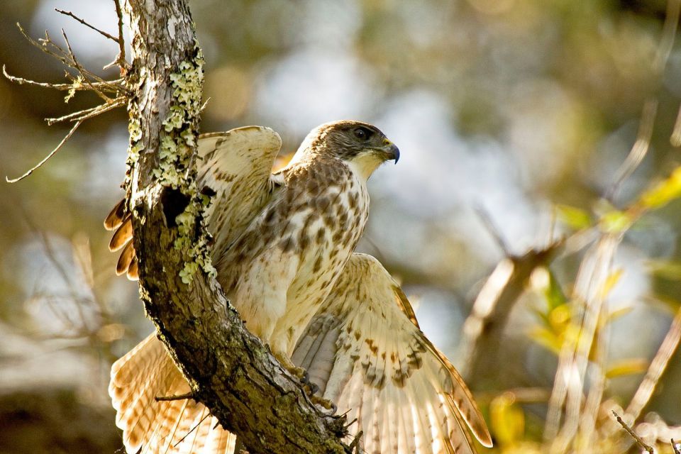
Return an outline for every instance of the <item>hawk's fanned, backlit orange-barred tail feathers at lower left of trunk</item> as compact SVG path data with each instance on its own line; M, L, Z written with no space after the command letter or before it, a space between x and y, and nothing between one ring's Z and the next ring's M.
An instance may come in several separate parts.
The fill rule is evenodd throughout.
M179 396L189 384L151 334L111 367L109 394L128 454L231 454L236 436L223 430L206 406Z

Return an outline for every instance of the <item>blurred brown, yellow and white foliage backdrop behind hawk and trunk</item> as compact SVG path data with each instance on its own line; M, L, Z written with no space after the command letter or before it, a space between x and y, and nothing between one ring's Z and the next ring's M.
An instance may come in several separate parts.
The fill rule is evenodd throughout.
M497 452L640 450L613 409L672 452L669 438L681 438L677 0L190 5L206 56L204 132L270 126L286 155L319 123L357 118L399 145L399 165L370 181L360 249L402 279L423 330L466 372ZM5 2L9 74L64 82L17 21L35 38L65 28L89 68L114 59L114 43L55 8L115 33L111 1ZM43 118L96 98L63 101L0 79L1 175L21 175L70 128ZM627 160L635 144L638 166ZM122 196L126 147L119 109L84 123L28 179L2 184L0 452L121 444L109 366L152 329L136 284L114 275L101 224ZM464 330L473 301L482 310L499 297L494 286L512 291L492 328ZM485 325L484 310L477 321ZM466 326L475 322L474 311Z

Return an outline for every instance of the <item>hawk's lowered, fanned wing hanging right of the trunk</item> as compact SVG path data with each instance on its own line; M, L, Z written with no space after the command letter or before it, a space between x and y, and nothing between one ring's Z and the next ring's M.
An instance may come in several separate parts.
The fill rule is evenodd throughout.
M323 397L348 412L367 453L472 453L492 442L453 365L415 323L397 282L353 254L293 355Z

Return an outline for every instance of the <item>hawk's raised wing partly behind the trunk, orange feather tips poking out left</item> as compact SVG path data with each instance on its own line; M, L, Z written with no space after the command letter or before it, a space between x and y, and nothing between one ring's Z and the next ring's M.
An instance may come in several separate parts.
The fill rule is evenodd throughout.
M272 165L281 145L279 134L262 126L199 136L199 190L215 195L207 225L216 234L216 251L230 245L269 199L275 184ZM118 202L106 216L104 227L115 231L109 249L123 248L116 274L137 279L132 219L125 201Z

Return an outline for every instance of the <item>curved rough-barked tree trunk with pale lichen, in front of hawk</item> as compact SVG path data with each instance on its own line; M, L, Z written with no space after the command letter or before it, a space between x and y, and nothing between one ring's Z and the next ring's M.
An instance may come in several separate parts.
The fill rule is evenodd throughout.
M196 187L201 51L184 0L128 0L132 67L126 191L140 297L162 341L224 428L251 453L343 453L326 416L250 334L214 278Z

